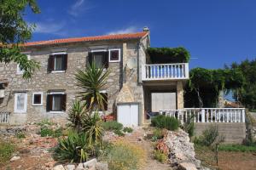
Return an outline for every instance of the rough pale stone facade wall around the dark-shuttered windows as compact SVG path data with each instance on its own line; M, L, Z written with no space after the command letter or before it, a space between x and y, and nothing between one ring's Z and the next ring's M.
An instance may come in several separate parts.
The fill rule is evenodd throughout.
M124 45L125 43L125 45ZM67 112L61 114L53 114L46 112L46 95L49 90L61 89L67 94L67 111L73 103L73 99L81 90L76 86L74 74L77 69L84 69L86 58L90 47L106 46L107 48L120 48L121 61L109 63L108 69L111 71L108 77L108 113L115 111L116 97L123 87L123 83L127 82L127 86L131 89L131 93L137 102L143 103L142 86L137 82L137 58L138 58L138 41L126 40L111 42L79 42L72 44L62 44L55 46L38 46L27 48L26 52L31 54L32 59L40 62L40 70L36 71L31 80L25 80L22 75L16 74L17 65L10 63L8 65L0 64L0 79L7 78L9 86L6 88L6 94L9 94L7 105L0 105L0 111L10 111L11 124L23 124L25 122L39 122L44 118L51 118L57 122L66 122ZM125 47L125 49L124 49ZM47 65L49 54L53 49L67 50L67 71L64 73L48 73ZM126 71L123 68L122 57L126 56ZM124 81L124 72L125 78ZM14 113L15 92L26 92L27 94L27 111L25 114ZM43 92L43 106L32 106L32 93Z

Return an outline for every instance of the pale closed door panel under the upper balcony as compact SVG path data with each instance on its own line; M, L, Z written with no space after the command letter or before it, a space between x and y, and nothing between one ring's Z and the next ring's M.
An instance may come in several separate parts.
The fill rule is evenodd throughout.
M176 93L152 93L151 111L176 110Z

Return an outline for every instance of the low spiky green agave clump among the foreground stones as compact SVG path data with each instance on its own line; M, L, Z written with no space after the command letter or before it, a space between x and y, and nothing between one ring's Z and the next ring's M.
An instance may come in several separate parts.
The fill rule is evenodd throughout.
M57 161L82 162L93 153L86 133L69 132L67 138L59 139L53 157Z

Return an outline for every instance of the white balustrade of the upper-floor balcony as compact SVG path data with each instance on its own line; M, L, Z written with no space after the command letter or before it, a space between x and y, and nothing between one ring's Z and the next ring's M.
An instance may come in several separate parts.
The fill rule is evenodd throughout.
M143 81L189 79L189 64L143 65Z

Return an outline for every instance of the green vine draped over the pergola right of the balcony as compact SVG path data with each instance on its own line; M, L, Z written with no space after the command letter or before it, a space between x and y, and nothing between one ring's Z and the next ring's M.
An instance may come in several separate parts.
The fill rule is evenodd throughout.
M221 91L228 94L241 88L245 81L237 69L195 68L189 71L189 77L184 94L185 107L216 107Z

